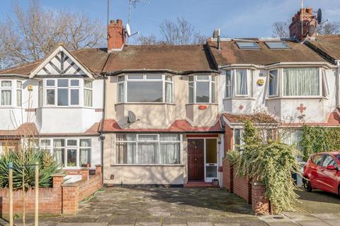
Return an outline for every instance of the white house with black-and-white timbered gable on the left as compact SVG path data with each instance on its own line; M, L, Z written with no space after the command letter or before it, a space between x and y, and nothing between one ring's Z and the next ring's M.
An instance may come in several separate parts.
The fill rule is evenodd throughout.
M0 148L33 136L69 172L100 165L107 55L106 49L69 52L60 44L46 59L1 71Z

